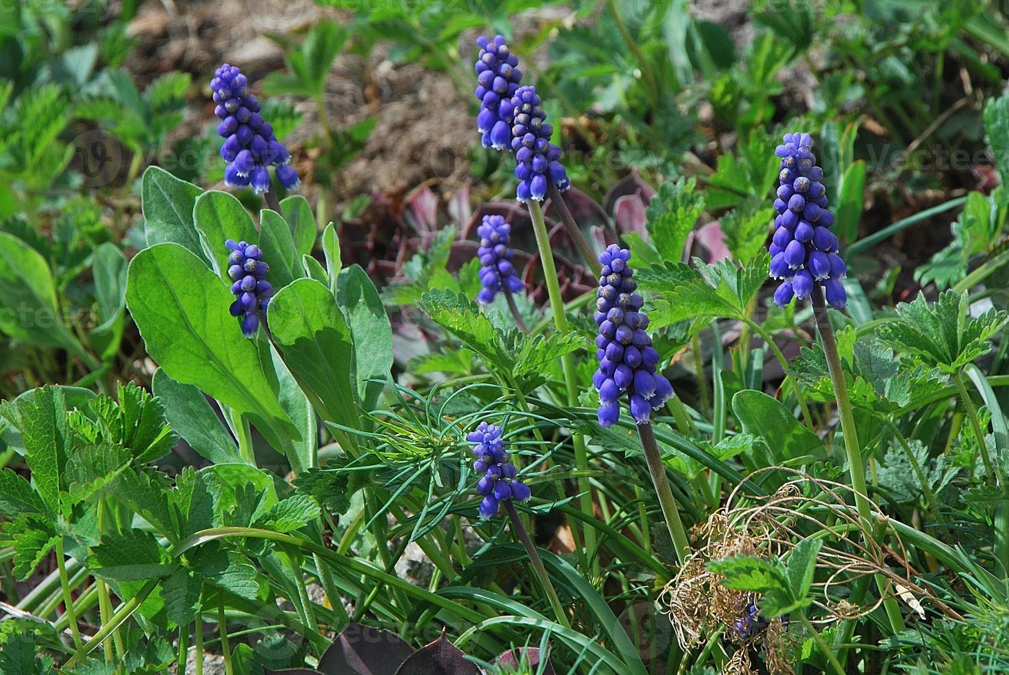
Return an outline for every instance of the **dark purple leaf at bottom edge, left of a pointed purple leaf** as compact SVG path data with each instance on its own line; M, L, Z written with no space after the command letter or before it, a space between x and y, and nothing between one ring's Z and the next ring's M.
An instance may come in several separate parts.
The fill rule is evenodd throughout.
M414 650L399 636L350 624L319 659L324 675L394 675Z

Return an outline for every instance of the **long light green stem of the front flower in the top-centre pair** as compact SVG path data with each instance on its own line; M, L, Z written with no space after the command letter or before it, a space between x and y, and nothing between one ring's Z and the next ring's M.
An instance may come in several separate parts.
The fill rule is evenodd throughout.
M564 301L561 298L560 280L557 278L557 267L554 265L554 253L550 248L550 233L547 232L547 225L543 222L543 211L540 210L540 203L536 200L529 201L529 215L533 220L533 231L536 233L536 245L540 251L540 262L543 264L544 282L547 285L547 295L550 297L550 309L554 315L554 326L559 333L568 332L567 316L564 314ZM578 405L578 377L574 370L574 358L571 354L561 357L561 367L564 370L564 383L567 387L568 406ZM586 516L593 514L592 508L592 487L587 478L588 473L588 451L585 448L585 439L581 434L571 434L571 442L574 444L575 468L582 473L578 478L578 491L581 492L581 511ZM585 524L585 548L589 551L595 550L595 530L586 522Z

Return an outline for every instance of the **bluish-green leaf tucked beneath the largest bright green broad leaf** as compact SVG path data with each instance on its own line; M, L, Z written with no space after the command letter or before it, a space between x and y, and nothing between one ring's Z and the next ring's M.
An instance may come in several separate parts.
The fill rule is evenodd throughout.
M164 404L172 428L202 457L215 464L243 461L231 432L199 387L178 382L158 368L151 389Z

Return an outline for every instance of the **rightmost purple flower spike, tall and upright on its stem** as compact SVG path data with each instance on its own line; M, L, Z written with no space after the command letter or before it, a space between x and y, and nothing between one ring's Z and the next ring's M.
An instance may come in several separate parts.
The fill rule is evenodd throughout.
M770 274L783 279L774 303L785 307L792 298L805 300L818 282L826 302L840 309L848 304L840 283L847 267L837 254L837 237L829 229L833 215L826 208L823 170L815 165L808 133L786 133L784 141L774 151L781 157L781 187L774 201L778 217L770 246Z

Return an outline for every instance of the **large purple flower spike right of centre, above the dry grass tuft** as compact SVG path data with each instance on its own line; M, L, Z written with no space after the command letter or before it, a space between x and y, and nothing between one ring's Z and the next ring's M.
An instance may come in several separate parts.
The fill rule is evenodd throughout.
M644 300L635 293L638 284L632 278L630 259L631 251L616 244L599 255L602 275L595 302L599 368L592 383L599 391L599 424L603 427L620 418L620 399L625 392L638 424L649 424L652 411L673 396L672 384L655 371L659 352L645 332L648 317L641 311Z

